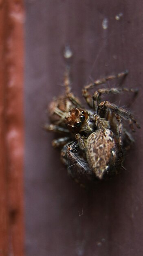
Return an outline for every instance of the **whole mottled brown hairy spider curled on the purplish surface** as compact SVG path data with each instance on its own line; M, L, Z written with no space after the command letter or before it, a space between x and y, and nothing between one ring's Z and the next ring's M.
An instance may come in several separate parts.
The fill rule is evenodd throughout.
M62 137L53 140L54 147L62 147L61 159L68 173L75 180L102 180L118 173L123 167L125 152L134 141L123 127L122 119L140 128L132 114L109 101L101 101L103 94L137 93L137 89L102 88L93 94L91 89L113 79L124 78L128 71L106 76L84 86L82 95L88 104L84 108L80 100L70 91L69 67L64 76L65 94L54 98L48 107L50 125L48 131L60 132ZM74 166L74 168L73 168ZM75 168L76 167L76 168Z

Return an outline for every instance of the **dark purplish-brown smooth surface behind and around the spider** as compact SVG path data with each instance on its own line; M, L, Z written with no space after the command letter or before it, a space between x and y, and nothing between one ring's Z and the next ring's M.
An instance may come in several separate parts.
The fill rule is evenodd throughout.
M72 87L78 96L89 76L128 69L124 84L140 89L131 109L143 123L143 1L25 0L25 6L26 256L141 256L142 130L134 134L126 170L84 190L67 176L51 146L54 134L41 126L48 120L47 104L63 92L64 45L74 53ZM112 100L127 106L132 96Z

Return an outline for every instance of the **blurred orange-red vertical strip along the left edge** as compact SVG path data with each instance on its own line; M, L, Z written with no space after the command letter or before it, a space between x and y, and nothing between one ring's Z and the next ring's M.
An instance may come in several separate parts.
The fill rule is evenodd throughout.
M0 1L0 255L23 256L22 0Z

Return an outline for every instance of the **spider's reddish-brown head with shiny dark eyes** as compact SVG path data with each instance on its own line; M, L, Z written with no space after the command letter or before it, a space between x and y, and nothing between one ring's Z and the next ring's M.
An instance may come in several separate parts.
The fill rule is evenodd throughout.
M88 112L82 108L73 108L66 117L66 125L72 132L79 132L86 124Z

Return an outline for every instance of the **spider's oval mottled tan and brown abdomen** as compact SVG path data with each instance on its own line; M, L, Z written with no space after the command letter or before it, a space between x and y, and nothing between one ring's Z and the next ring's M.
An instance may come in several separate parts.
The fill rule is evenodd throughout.
M88 165L96 177L103 178L105 173L114 169L117 161L117 145L113 132L109 129L99 129L92 132L87 140Z

